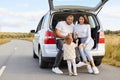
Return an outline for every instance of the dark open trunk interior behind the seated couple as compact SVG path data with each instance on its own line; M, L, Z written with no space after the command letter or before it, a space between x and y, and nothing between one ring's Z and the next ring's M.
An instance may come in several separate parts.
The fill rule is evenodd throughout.
M69 11L66 11L66 12L56 12L53 14L52 16L52 22L51 22L51 29L54 31L55 30L55 27L57 25L57 23L59 21L65 21L66 20L66 17L70 14L71 12ZM85 13L85 12L73 12L71 13L72 15L74 15L74 24L76 25L78 23L78 18L80 15L84 15L86 17L86 20L88 20L89 24L90 24L90 27L91 27L91 36L94 40L94 48L96 48L96 45L98 43L98 30L100 28L98 22L97 22L97 19L96 19L96 16L92 13Z

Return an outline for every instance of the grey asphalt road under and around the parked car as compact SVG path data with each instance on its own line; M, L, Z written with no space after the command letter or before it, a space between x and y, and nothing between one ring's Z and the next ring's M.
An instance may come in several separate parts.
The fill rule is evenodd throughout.
M54 74L50 68L40 69L38 59L32 58L32 43L13 40L0 45L0 80L120 80L120 68L102 63L100 74L88 74L85 67L78 68L78 76Z

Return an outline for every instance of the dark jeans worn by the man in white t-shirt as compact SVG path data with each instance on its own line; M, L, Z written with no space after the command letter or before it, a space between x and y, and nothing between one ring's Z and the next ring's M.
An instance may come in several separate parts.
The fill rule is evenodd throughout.
M57 40L58 53L56 55L55 63L53 65L53 67L59 67L59 64L60 64L60 62L62 60L62 57L63 57L62 48L63 48L63 43L64 43L63 41L64 41L64 39L58 39ZM77 55L76 60L77 60L77 62L79 62L80 61L80 54L79 54L79 50L77 48L76 48L76 55Z

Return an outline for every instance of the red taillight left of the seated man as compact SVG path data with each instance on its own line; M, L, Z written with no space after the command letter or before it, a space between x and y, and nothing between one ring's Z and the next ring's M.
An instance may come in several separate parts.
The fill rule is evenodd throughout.
M47 31L45 34L44 44L56 44L54 32Z

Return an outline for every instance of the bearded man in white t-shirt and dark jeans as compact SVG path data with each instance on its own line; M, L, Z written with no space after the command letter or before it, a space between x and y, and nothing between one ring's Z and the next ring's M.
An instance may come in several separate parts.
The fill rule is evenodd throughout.
M56 37L57 37L56 38L57 39L57 48L59 49L59 51L56 55L56 59L55 59L55 63L53 65L52 71L54 73L57 73L57 74L63 73L59 69L59 64L60 64L62 57L63 57L63 50L62 50L63 43L64 43L63 41L64 41L64 38L67 34L73 33L73 27L74 27L73 20L74 20L74 16L68 15L66 18L66 21L58 22L58 24L55 27L56 28L55 32L56 32ZM82 65L84 65L84 64L82 64Z

